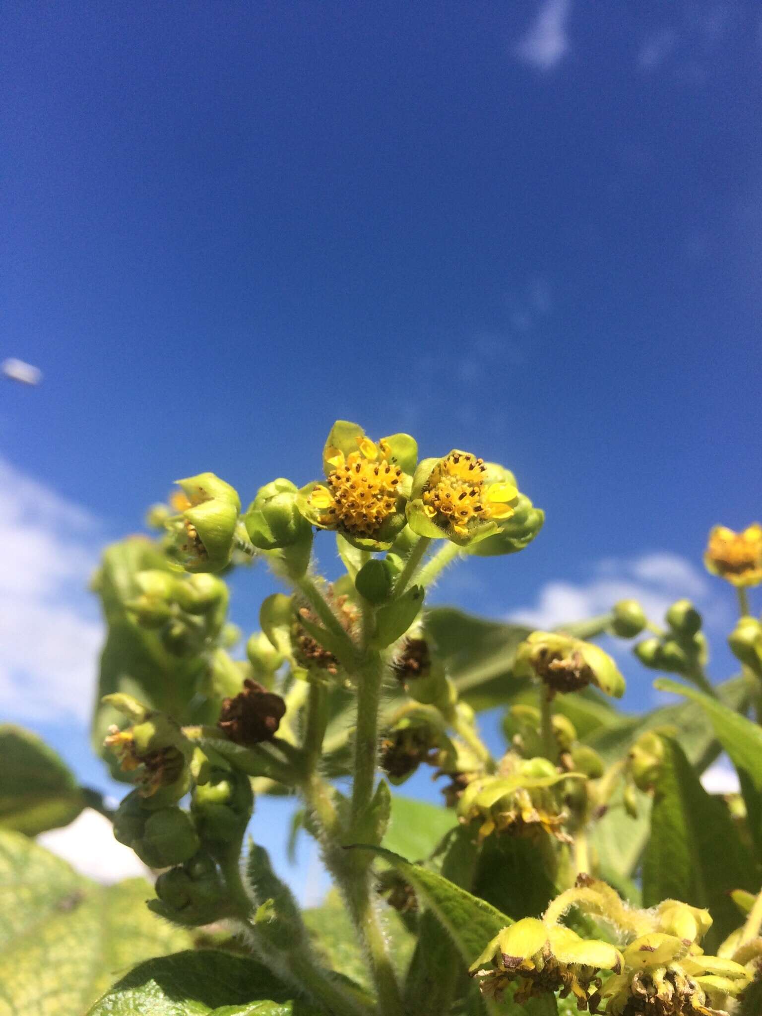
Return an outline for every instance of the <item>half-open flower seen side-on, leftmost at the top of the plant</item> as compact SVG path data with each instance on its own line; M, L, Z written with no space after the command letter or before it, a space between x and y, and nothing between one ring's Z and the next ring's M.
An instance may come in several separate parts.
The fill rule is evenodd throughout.
M187 507L171 523L174 550L189 572L218 572L233 556L241 500L213 472L179 480Z

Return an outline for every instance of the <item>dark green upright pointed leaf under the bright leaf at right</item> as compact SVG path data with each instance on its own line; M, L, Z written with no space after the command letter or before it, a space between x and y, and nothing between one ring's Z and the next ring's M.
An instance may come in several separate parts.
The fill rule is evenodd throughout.
M704 947L713 952L739 925L729 893L756 888L756 877L725 803L706 792L677 741L663 744L643 855L643 903L680 899L708 907L714 924Z

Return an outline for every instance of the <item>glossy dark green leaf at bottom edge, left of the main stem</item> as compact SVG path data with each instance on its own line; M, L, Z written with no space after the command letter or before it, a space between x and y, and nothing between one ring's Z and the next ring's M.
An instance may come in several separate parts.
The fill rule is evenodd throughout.
M207 949L140 963L87 1016L307 1016L318 1012L314 1007L297 1007L293 998L294 990L256 960Z

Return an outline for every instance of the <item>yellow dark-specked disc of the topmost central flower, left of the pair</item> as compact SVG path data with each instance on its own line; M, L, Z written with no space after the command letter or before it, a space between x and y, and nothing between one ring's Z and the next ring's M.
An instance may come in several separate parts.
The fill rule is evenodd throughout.
M326 486L313 489L310 504L320 512L321 525L373 538L397 509L402 470L389 461L385 441L359 437L358 445L348 455L328 449L326 461L333 468Z

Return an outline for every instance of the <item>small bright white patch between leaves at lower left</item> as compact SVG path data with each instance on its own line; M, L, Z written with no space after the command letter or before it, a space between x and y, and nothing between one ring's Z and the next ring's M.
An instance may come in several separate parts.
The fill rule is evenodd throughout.
M42 833L38 842L68 861L80 875L103 885L138 876L150 878L150 872L137 855L114 839L111 822L91 808L85 808L63 829Z

